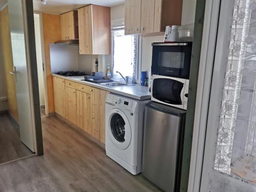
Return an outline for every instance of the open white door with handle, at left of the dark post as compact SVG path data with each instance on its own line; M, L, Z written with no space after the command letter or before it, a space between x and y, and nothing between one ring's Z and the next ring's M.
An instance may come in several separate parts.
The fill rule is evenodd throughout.
M16 81L17 107L19 119L20 140L32 152L34 146L34 119L32 109L32 94L30 88L30 70L26 41L26 23L23 0L8 0L11 43L14 70L11 72Z

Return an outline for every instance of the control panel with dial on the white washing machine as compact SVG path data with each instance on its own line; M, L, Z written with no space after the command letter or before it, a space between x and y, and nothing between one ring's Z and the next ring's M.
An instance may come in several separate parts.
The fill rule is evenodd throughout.
M137 103L133 100L111 94L106 95L106 103L131 112L135 112L137 107Z

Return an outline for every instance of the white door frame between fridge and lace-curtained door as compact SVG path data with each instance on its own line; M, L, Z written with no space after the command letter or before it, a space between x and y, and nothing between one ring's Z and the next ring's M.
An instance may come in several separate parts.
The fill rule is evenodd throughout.
M200 191L221 0L206 0L188 192Z

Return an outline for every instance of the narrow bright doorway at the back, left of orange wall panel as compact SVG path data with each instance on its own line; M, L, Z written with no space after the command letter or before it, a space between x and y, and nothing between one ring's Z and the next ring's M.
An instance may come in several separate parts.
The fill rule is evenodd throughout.
M40 100L40 112L41 118L48 117L48 104L46 96L46 73L45 73L45 55L42 28L41 28L41 14L34 13L34 24L35 24L35 46L36 46L36 62L37 62L37 74L38 74L38 89L39 89L39 100Z

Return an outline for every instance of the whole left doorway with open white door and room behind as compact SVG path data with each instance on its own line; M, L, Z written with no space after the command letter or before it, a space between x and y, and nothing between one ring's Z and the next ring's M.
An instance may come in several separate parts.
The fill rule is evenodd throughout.
M0 165L43 154L31 5L0 8Z

